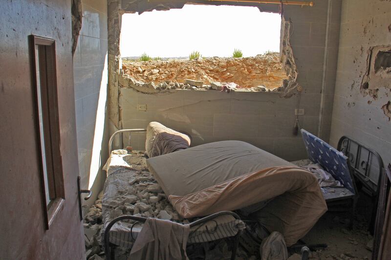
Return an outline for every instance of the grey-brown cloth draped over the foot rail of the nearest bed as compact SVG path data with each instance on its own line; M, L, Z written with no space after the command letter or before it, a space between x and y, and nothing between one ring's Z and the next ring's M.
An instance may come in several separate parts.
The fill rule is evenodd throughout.
M190 225L148 218L128 260L188 260L186 244Z

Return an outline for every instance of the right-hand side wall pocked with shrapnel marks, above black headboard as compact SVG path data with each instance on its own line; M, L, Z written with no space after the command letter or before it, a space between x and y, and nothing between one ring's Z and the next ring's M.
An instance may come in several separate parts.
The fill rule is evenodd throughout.
M391 2L343 0L337 79L330 142L350 136L391 162L391 122L381 106L391 90L379 87L377 97L360 93L370 46L391 44Z

